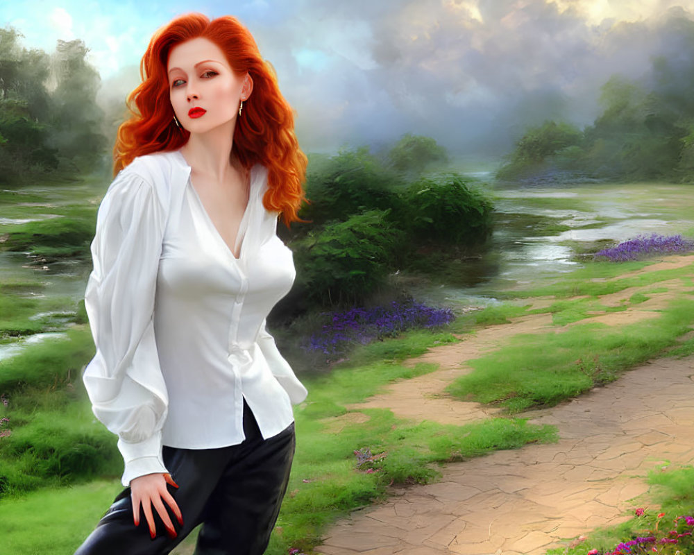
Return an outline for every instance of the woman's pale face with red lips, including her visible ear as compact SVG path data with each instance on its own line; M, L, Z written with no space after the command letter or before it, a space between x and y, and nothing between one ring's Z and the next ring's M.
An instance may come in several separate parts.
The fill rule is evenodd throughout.
M167 71L171 105L190 133L233 127L240 101L253 89L251 76L237 76L219 46L202 37L174 46Z

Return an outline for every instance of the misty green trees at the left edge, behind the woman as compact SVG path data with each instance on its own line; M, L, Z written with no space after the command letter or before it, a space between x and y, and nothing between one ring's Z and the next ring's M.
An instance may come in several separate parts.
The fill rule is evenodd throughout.
M0 28L0 185L91 171L108 141L96 105L99 73L85 61L87 47L59 40L49 55L25 49L21 36Z

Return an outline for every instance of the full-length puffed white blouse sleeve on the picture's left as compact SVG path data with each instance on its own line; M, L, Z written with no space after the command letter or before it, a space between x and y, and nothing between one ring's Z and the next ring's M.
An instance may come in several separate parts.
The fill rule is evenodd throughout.
M167 472L162 425L169 399L153 327L165 223L155 187L124 170L101 201L92 241L85 306L96 355L83 379L94 415L119 436L124 486Z

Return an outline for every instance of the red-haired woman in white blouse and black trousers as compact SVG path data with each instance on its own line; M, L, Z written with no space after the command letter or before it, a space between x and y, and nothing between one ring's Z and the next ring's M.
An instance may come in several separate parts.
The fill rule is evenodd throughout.
M264 320L294 280L276 223L297 219L306 157L237 19L174 19L141 73L85 292L84 382L127 487L77 553L169 553L202 524L196 554L260 554L306 396Z

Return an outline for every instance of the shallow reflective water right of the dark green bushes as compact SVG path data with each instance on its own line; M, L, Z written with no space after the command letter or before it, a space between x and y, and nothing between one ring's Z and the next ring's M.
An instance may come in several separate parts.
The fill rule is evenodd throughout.
M694 185L488 187L496 196L496 213L486 250L464 261L465 279L459 283L412 285L420 300L484 306L498 302L494 291L557 280L579 268L586 252L609 244L639 234L694 236Z

